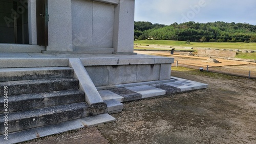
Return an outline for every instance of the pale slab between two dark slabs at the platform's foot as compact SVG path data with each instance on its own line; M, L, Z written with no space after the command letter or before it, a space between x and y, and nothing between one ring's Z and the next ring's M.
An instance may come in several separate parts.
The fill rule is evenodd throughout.
M156 97L159 95L164 95L166 93L165 90L149 85L127 87L127 89L140 93L142 95L142 99Z

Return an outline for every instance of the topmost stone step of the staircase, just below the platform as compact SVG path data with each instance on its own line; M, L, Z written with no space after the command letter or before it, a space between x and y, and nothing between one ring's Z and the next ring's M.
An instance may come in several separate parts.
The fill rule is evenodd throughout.
M70 67L0 68L0 76L0 82L71 78L73 77L73 69Z

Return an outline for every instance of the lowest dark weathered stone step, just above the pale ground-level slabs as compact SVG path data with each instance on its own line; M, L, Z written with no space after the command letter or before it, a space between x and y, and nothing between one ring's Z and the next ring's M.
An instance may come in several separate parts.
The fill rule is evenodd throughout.
M0 114L0 125L8 119L8 133L58 124L81 117L106 113L106 104L88 105L85 102ZM0 127L4 134L6 127Z

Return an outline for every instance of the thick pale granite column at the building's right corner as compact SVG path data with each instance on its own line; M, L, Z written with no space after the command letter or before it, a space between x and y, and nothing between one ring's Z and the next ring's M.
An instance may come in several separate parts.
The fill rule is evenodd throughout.
M135 0L120 0L115 7L113 54L133 53Z

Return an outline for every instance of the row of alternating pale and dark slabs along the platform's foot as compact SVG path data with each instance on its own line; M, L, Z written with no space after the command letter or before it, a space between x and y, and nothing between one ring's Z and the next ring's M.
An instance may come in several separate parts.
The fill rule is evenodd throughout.
M97 87L108 112L119 112L123 109L121 102L134 101L207 88L208 85L177 77L170 80L130 83ZM110 108L109 108L110 107Z

